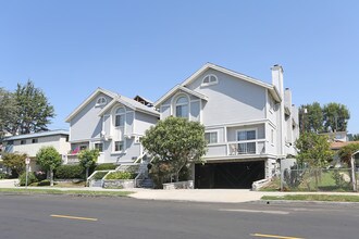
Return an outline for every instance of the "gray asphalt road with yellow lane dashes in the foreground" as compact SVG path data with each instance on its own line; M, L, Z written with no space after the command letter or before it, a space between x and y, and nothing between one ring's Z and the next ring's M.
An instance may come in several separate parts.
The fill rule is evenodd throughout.
M358 204L0 194L0 239L358 239Z

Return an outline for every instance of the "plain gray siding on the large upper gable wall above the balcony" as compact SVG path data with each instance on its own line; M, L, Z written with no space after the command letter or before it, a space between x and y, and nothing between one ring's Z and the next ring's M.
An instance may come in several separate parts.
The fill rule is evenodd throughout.
M219 84L202 87L201 81L207 74L215 74ZM205 125L237 123L265 117L267 99L263 87L213 70L201 74L187 87L209 98L203 105L202 123Z

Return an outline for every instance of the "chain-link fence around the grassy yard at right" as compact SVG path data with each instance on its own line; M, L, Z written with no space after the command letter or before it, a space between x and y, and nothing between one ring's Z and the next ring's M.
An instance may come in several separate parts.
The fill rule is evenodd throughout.
M355 175L357 180L359 173ZM281 177L282 189L288 191L358 191L354 190L351 168L286 168Z

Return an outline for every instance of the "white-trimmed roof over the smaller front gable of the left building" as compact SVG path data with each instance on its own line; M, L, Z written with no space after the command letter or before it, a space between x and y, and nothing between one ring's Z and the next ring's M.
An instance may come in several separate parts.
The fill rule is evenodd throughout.
M115 98L113 98L113 100L108 103L108 105L106 105L99 113L99 116L103 115L109 109L111 109L115 103L121 103L134 111L140 111L147 114L151 114L154 116L160 116L160 113L158 111L156 111L154 108L150 108L150 106L146 106L143 103L139 103L138 101L124 97L124 96L120 96L117 95Z

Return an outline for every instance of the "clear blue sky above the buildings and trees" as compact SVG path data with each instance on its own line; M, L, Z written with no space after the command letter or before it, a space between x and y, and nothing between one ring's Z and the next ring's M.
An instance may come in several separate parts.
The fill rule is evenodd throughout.
M271 80L297 105L348 106L359 133L359 1L0 0L0 87L32 79L51 129L97 87L157 100L206 62Z

